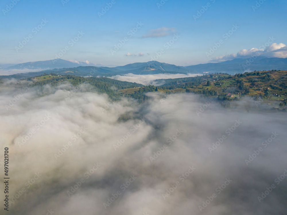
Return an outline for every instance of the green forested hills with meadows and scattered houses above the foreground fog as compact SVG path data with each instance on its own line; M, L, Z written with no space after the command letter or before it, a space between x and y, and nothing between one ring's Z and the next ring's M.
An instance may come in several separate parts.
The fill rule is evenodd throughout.
M37 74L37 75L36 75ZM29 78L27 76L30 75ZM56 73L21 73L9 76L0 76L0 84L6 78L15 78L18 81L27 80L28 87L43 87L47 84L59 86L69 82L75 88L80 84L89 84L92 92L105 93L111 100L119 100L122 96L135 98L138 102L144 102L147 92L161 92L164 94L186 92L201 94L203 96L217 96L220 100L237 100L240 96L254 98L277 97L283 102L286 100L287 71L254 71L229 75L227 73L211 73L195 77L160 79L160 86L123 82L105 77L82 77L78 75L59 75ZM123 92L123 89L131 89ZM133 90L134 89L134 90ZM276 99L277 99L276 98Z

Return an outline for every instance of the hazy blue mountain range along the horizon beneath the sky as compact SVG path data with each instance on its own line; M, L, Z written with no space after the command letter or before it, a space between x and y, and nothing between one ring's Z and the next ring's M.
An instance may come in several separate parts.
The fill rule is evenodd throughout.
M78 62L78 61L77 61ZM111 65L110 65L111 66ZM5 67L5 68L4 68ZM244 73L254 70L284 70L287 69L287 58L237 58L230 61L219 63L205 63L192 66L177 66L158 61L149 61L146 63L131 63L124 66L108 67L95 65L92 63L78 62L73 63L63 59L36 61L20 63L16 65L2 65L6 71L12 69L38 69L45 72L54 73L73 73L81 76L98 76L98 75L123 75L133 73L137 75L159 74L159 73Z

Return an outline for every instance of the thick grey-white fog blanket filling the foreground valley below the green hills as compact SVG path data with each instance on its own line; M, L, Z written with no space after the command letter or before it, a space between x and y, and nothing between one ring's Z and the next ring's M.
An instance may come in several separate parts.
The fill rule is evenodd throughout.
M286 113L87 89L1 86L1 214L286 214Z

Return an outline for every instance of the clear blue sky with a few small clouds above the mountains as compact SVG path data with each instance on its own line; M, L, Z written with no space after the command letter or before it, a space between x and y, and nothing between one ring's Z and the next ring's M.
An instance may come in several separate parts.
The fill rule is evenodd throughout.
M99 16L102 7L108 11ZM258 50L268 57L287 57L285 0L2 0L0 9L0 64L51 60L60 50L65 52L61 59L103 65L146 62L160 55L154 59L186 66ZM200 10L204 12L195 18ZM228 31L232 34L224 39ZM270 47L260 48L269 37L274 38ZM26 44L24 38L29 39ZM124 44L118 45L119 40ZM214 43L220 46L212 53Z

